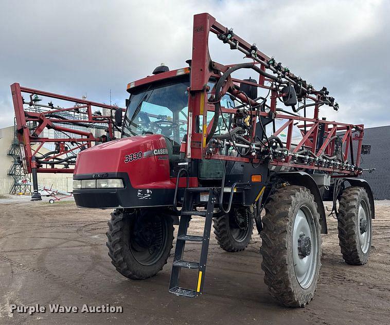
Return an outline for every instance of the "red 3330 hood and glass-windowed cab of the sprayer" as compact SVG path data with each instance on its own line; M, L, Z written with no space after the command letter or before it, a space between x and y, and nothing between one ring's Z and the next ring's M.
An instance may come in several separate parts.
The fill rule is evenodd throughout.
M177 71L156 76L129 86L121 139L80 152L74 173L78 206L172 205L173 166L187 133L189 76Z

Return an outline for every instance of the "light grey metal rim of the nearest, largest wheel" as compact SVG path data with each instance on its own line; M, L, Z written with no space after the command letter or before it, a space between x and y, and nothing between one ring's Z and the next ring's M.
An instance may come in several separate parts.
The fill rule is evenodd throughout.
M313 283L317 269L318 238L316 225L307 206L299 208L293 226L293 263L296 279L302 288Z

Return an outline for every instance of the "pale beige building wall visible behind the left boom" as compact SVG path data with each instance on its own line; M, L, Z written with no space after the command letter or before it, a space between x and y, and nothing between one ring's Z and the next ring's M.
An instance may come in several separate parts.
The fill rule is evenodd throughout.
M7 175L7 169L10 168L13 159L7 156L7 150L10 148L13 140L13 126L0 129L0 194L8 194L13 183L12 176ZM45 149L40 152L44 153ZM38 174L38 183L42 186L72 191L73 174Z

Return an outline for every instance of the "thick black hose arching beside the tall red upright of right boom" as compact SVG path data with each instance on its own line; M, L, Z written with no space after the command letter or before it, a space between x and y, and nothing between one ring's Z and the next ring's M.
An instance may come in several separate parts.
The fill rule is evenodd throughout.
M208 134L208 136L206 138L206 142L209 142L210 139L214 136L215 130L217 129L217 126L218 126L218 118L219 118L219 114L221 111L221 103L220 103L221 94L220 94L220 92L221 92L222 85L223 85L224 81L227 79L227 77L229 77L229 75L231 75L234 71L237 71L239 69L253 69L266 78L275 80L277 82L281 82L280 78L276 77L273 74L270 74L270 73L267 73L267 72L261 70L258 66L256 66L255 64L253 64L251 62L237 64L234 67L227 69L226 72L224 74L222 74L221 78L218 80L218 82L215 86L214 121L212 122L210 133Z

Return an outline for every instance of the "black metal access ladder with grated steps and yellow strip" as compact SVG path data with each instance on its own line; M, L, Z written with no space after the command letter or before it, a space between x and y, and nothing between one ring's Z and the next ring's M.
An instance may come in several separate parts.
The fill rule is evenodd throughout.
M180 216L178 238L176 238L175 253L173 257L171 278L169 282L169 292L176 296L196 297L202 294L204 276L206 272L206 262L208 253L208 243L210 240L212 214L214 205L217 203L220 188L214 187L187 187L184 192L183 207ZM206 211L197 211L193 207L194 197L200 193L208 192ZM205 217L203 236L188 235L187 230L191 216ZM202 243L200 261L185 261L183 259L184 247L187 241ZM179 285L180 272L182 268L198 270L198 282L195 290L182 288Z

